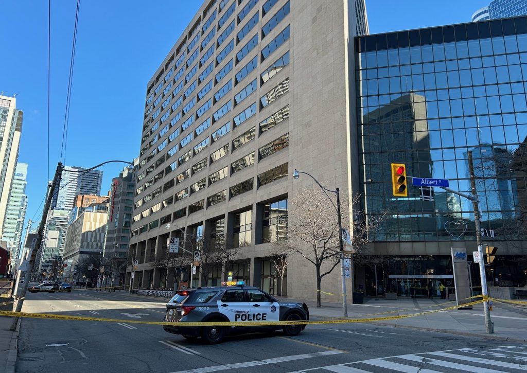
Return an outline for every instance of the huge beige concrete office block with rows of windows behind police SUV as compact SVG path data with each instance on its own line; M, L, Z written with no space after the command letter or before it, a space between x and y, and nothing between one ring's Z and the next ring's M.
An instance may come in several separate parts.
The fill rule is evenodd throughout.
M234 279L279 291L269 257L285 237L288 198L318 188L307 176L293 180L293 170L343 193L358 182L350 41L367 33L363 0L203 3L147 85L134 287L160 286L151 264L170 235L190 248L202 238L243 247ZM306 263L291 261L288 296L316 297ZM337 292L339 276L323 286ZM208 284L221 277L214 271Z

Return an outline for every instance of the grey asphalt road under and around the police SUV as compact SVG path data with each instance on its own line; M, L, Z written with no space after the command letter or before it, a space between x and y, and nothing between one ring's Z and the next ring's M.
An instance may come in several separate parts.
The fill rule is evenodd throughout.
M164 303L124 292L37 293L27 295L23 311L161 321ZM297 337L228 337L210 346L155 325L24 318L18 347L21 373L527 370L527 345L355 323L308 326Z

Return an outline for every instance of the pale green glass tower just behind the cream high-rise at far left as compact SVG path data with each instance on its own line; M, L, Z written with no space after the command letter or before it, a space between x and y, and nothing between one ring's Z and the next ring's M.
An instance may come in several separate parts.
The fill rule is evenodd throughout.
M17 163L11 185L11 194L7 202L7 212L4 219L2 240L7 242L11 257L11 272L15 272L21 248L22 230L27 209L26 181L27 163Z

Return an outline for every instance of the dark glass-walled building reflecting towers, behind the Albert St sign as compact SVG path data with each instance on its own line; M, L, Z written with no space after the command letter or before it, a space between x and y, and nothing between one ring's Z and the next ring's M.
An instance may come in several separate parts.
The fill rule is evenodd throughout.
M518 286L527 253L527 17L357 37L355 51L362 202L369 218L386 214L370 237L375 253L394 256L392 275L422 276L451 274L451 247L476 250L471 201L439 188L424 201L411 179L408 197L395 198L390 167L404 163L408 176L449 179L470 193L472 151L483 242L498 248L494 276ZM399 293L417 288L389 283Z

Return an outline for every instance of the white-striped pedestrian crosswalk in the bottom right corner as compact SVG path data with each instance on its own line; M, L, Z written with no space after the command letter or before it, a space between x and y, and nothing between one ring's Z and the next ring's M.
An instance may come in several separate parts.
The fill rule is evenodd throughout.
M314 370L317 372L371 373L377 372L379 369L383 371L389 369L405 373L440 373L447 371L511 373L527 371L527 365L522 364L525 360L524 355L527 355L527 346L462 348L354 361L347 364L300 370L300 372Z

